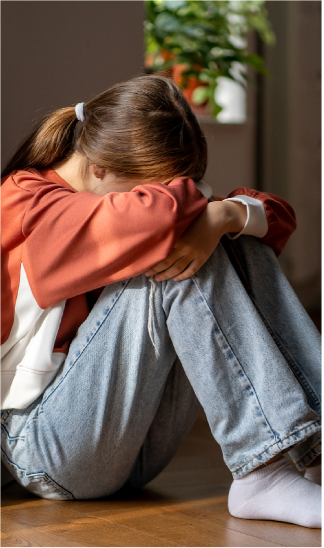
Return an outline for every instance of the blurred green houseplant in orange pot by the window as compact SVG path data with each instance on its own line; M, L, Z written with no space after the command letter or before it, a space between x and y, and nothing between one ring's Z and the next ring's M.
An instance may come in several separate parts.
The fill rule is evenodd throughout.
M216 117L220 76L245 85L246 67L265 74L263 59L247 50L253 30L274 43L265 0L145 0L146 68L169 71L194 106Z

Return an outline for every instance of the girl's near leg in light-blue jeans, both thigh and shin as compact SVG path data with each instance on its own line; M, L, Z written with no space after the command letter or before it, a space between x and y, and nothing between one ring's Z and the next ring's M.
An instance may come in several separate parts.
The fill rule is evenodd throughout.
M77 498L111 493L127 480L175 357L164 312L235 477L320 429L221 247L194 278L158 284L152 333L159 355L147 334L148 302L145 276L106 288L89 317L91 329L88 322L81 327L41 401L3 416L2 433L11 435L4 450L15 453L22 483L37 477L36 465L39 474L50 471L48 483ZM26 456L33 473L18 470L17 459Z

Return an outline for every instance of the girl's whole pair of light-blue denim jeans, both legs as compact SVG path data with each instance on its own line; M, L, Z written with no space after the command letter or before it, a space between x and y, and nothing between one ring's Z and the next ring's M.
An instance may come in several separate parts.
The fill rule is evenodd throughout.
M289 451L321 453L320 335L272 250L234 242L249 294L221 245L195 276L107 286L37 401L0 420L2 458L52 499L143 486L172 458L200 402L239 478Z

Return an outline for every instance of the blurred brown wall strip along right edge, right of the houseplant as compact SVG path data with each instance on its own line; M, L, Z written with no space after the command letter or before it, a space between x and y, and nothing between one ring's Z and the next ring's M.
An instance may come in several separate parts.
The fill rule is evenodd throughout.
M287 199L297 230L280 259L303 305L322 307L321 0L268 0L277 36L265 52L263 188Z

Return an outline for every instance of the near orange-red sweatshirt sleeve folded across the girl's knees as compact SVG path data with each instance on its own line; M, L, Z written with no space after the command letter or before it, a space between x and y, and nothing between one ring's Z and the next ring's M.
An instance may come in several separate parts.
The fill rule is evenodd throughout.
M38 305L145 272L206 205L189 178L105 196L43 180L22 222L22 263Z

